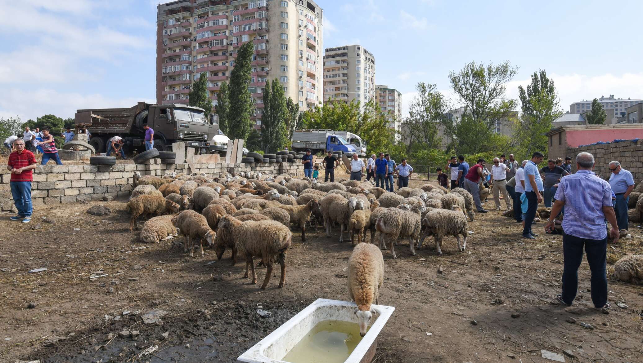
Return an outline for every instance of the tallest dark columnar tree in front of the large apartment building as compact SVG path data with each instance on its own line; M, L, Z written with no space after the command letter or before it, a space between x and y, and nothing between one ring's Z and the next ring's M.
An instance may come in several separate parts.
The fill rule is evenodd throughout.
M235 67L230 73L230 111L228 111L228 137L246 139L252 129L250 113L253 103L248 91L250 83L253 42L247 42L239 48Z

